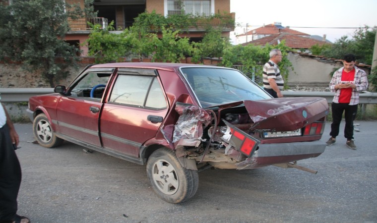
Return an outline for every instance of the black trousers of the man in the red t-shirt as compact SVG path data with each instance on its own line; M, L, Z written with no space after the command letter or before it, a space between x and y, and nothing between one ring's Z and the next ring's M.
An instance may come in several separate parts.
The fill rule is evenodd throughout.
M339 135L339 125L344 112L344 119L346 120L346 125L344 127L344 137L347 138L347 140L353 139L353 121L355 120L357 114L357 105L350 106L346 103L332 103L331 111L331 137L335 138Z

